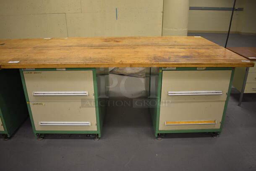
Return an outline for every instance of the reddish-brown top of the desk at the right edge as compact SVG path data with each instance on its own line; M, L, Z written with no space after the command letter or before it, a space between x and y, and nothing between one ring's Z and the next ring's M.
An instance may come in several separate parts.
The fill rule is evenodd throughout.
M227 49L246 57L248 60L256 61L256 47L227 47Z

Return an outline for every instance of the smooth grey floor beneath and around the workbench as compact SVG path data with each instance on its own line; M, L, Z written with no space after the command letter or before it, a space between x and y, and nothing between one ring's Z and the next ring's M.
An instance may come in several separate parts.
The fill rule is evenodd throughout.
M225 40L223 34L189 35L200 35L222 45L220 41ZM243 46L248 39L248 46L256 46L255 36L233 36L240 39L231 41L232 46ZM128 92L144 96L139 94L144 88L141 80L134 78L133 83L136 90L130 86ZM115 90L111 94L113 101L131 101L118 97ZM206 133L180 133L156 140L148 109L128 105L108 108L103 136L97 142L85 135L45 135L44 140L38 141L28 119L10 140L0 140L0 169L255 171L256 94L245 94L240 107L238 97L238 91L232 88L224 129L217 139Z

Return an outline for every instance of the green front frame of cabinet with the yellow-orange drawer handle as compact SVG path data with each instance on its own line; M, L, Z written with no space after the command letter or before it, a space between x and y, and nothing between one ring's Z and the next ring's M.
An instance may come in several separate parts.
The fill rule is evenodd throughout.
M159 80L161 79L161 82L159 82L159 85L158 85L158 91L160 90L160 96L158 96L158 98L160 97L160 99L161 99L162 72L160 72L160 70L162 70L162 68L159 68ZM177 69L176 68L176 70L197 70L197 69L195 69L195 68L178 68ZM206 70L232 70L231 77L230 77L230 84L229 84L229 88L228 88L228 92L227 92L227 99L226 99L223 114L222 114L222 121L220 124L220 128L219 129L201 129L201 130L159 130L159 117L160 117L160 104L159 103L160 103L160 101L157 100L157 130L155 131L155 137L157 137L158 133L188 133L188 132L219 132L219 133L221 133L223 124L225 121L227 104L228 104L228 100L230 97L230 91L232 88L232 81L233 81L233 77L234 77L235 68L234 67L226 67L226 68L217 67L217 68L213 68L213 69L206 68ZM161 78L160 78L160 75L161 75Z

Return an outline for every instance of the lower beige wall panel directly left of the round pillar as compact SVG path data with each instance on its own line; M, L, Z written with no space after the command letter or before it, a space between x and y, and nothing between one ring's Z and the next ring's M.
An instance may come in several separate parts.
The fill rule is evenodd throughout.
M69 37L94 36L161 36L161 12L66 14Z

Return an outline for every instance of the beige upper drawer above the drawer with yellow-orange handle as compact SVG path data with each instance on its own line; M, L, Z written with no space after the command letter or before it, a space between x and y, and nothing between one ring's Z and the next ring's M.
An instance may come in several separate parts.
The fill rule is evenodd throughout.
M231 70L162 71L161 101L225 101Z

